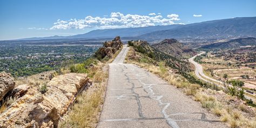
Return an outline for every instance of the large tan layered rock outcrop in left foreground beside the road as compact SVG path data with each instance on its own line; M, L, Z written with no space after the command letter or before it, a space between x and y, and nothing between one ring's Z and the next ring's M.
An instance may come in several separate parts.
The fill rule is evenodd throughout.
M0 114L0 127L57 127L76 95L89 85L86 74L68 73L54 77L46 84L48 91L44 94L38 87L31 87Z

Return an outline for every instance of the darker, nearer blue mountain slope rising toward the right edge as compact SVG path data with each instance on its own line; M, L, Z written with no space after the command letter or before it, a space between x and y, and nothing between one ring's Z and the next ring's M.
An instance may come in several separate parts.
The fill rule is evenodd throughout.
M140 37L151 39L227 39L256 37L256 17L220 19L181 25L170 30L146 33Z

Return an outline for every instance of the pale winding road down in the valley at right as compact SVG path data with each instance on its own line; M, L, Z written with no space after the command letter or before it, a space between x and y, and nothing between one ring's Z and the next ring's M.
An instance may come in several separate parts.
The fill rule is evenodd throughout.
M202 54L204 54L204 53L205 53L204 51L203 51L203 52L200 52L200 53L198 53L197 55L195 55L195 56L193 56L193 57L191 57L191 58L188 59L188 62L192 63L192 64L195 66L195 73L196 73L196 76L197 76L199 79L204 80L205 82L208 82L208 83L211 83L211 84L214 84L214 83L210 82L210 80L212 80L213 82L217 82L217 83L219 83L219 84L214 84L214 85L219 86L219 87L222 87L223 89L225 89L225 87L223 86L223 82L221 82L220 80L213 79L213 78L211 78L211 77L206 76L206 75L204 74L204 72L203 72L203 66L202 66L201 64L199 64L199 63L197 63L197 62L194 61L194 58L196 58L197 56L200 56L200 55L202 55ZM205 78L206 78L206 79L205 79ZM228 85L228 86L232 87L231 84ZM239 88L239 90L240 90L240 88ZM248 95L251 95L250 93L248 93L248 92L246 92L246 91L244 91L244 92L247 93ZM246 99L252 99L253 102L256 102L253 97L245 96L245 98L246 98Z

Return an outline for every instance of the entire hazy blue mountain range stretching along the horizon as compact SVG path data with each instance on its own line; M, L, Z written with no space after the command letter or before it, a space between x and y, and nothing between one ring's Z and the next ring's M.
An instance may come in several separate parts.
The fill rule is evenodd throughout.
M41 38L25 38L20 40L38 39L75 39L75 38L112 38L115 36L137 39L156 40L176 39L228 39L239 37L256 37L256 17L239 17L214 21L186 24L159 25L141 28L122 28L93 30L74 36L52 36Z

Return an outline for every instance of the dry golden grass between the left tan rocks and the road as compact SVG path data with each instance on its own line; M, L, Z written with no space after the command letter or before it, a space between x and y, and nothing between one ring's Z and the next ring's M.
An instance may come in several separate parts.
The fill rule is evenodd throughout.
M91 70L93 85L77 96L75 104L60 120L59 127L96 127L107 84L107 72L100 67L98 65Z

